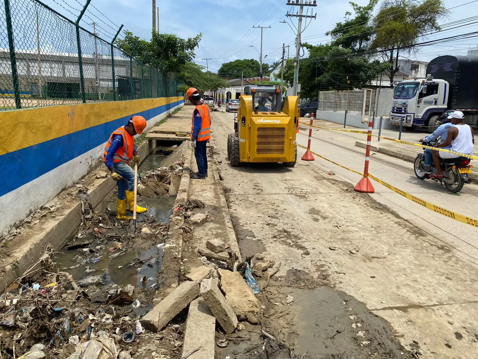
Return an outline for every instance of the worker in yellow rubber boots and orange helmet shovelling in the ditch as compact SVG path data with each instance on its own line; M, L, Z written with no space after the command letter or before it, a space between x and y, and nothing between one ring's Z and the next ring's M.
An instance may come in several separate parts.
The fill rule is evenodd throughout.
M134 136L141 135L146 128L146 120L142 116L132 116L128 123L114 131L106 143L103 161L111 172L111 178L118 184L118 201L116 202L116 218L128 220L126 202L130 211L134 208L134 170L130 167L131 159L140 161L140 155L134 146ZM136 205L136 212L146 212L146 208Z

